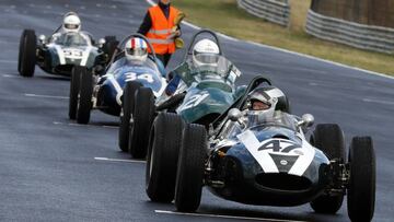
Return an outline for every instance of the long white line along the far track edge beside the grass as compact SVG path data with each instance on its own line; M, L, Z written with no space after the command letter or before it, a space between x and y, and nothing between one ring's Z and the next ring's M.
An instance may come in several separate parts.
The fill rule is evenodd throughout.
M151 5L157 4L157 3L153 2L152 0L146 0L146 1L147 1L149 4L151 4ZM201 28L201 27L198 27L198 26L196 26L196 25L194 25L194 24L192 24L192 23L188 23L188 22L183 22L183 23L184 23L185 25L190 26L192 28L195 28L195 30L200 30L200 28ZM235 40L235 42L241 42L241 40L237 39L237 38L234 38L234 37L224 35L224 34L222 34L222 33L218 33L218 34L219 34L220 36L222 36L222 37L225 36L225 38L228 38L228 39ZM287 54L291 54L291 55L296 55L296 56L300 56L300 57L313 59L313 60L316 60L316 61L323 61L323 62L331 63L331 65L335 65L335 66L338 66L338 67L343 67L343 68L347 68L347 69L352 69L352 70L357 70L357 71L362 71L362 72L366 72L366 73L369 73L369 74L373 74L373 75L378 75L378 77L382 77L382 78L387 78L387 79L393 79L393 80L394 80L394 77L389 75L389 74L370 71L370 70L366 70L366 69L358 68L358 67L351 67L351 66L348 66L348 65L344 65L344 63L339 63L339 62L335 62L335 61L331 61L331 60L317 58L317 57L310 56L310 55L305 55L305 54L300 54L300 52L297 52L297 51L287 50L287 49L283 49L283 48L278 48L278 47L275 47L275 46L268 46L268 45L264 45L264 44L259 44L259 43L254 43L254 42L251 42L251 40L243 40L243 42L248 43L248 44L252 44L252 45L255 45L255 46L258 46L258 47L270 48L270 49L274 49L274 50L278 50L278 51L282 51L282 52L287 52Z

